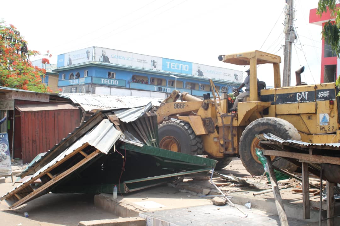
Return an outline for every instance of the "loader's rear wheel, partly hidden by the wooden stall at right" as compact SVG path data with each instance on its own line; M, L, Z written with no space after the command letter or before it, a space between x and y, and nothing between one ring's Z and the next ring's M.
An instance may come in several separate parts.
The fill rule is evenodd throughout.
M257 176L264 172L263 166L255 154L255 148L258 147L259 143L255 135L261 133L272 133L284 140L301 140L297 129L290 122L279 118L260 118L245 127L240 138L239 155L245 169L251 175ZM290 171L295 171L297 168L295 164L279 157L273 156L272 162L274 166Z

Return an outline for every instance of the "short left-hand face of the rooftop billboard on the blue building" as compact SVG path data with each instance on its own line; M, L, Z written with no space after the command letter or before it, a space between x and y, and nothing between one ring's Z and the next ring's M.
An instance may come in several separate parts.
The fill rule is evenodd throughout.
M58 55L57 67L70 66L92 61L93 46Z

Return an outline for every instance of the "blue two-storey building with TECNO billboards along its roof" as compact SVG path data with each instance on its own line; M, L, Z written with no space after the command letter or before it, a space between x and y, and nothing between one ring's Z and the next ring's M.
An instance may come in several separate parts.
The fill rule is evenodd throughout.
M58 55L58 88L63 93L166 98L173 90L202 97L217 90L231 92L243 81L242 71L203 64L88 47Z

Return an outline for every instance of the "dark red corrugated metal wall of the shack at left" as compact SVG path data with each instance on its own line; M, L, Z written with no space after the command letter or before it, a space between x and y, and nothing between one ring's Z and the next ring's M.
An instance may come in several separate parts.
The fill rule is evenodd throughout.
M39 153L59 143L79 126L79 109L22 111L16 117L21 125L22 162L31 162Z

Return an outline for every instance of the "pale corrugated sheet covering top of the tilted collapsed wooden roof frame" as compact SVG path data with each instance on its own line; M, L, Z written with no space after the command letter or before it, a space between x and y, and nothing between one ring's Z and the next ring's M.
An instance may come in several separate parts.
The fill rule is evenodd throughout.
M118 131L114 124L111 123L107 119L103 119L101 123L99 123L95 128L93 128L91 131L87 132L86 135L84 135L81 139L77 140L75 143L73 143L70 147L68 147L66 150L61 152L55 159L53 159L51 162L46 164L44 167L39 169L37 172L35 172L31 177L29 177L27 180L13 188L11 191L7 192L11 193L15 189L19 188L20 186L26 184L29 182L32 178L38 176L41 172L44 172L49 167L53 166L57 162L64 159L66 156L68 156L70 153L72 153L74 150L81 147L83 144L88 143L91 146L94 146L101 152L107 154L107 152L112 148L112 146L116 143L116 141L119 139L120 135L122 133ZM6 196L5 194L4 196ZM2 197L4 197L2 196ZM0 198L2 198L0 197Z

